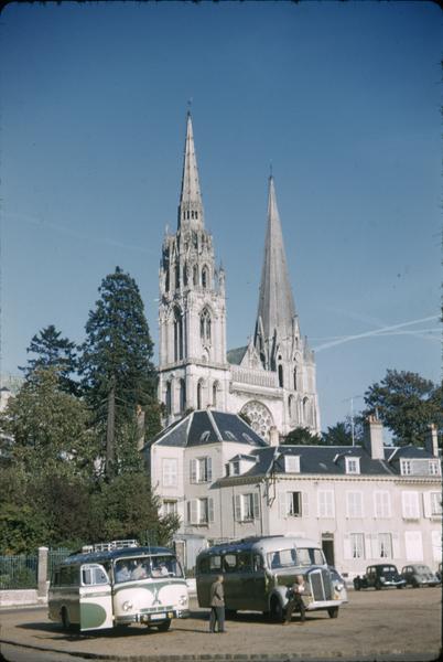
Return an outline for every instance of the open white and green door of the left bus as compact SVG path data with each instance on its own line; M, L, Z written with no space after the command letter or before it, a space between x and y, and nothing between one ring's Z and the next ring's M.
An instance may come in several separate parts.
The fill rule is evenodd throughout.
M111 585L101 565L82 565L79 602L82 631L114 627Z

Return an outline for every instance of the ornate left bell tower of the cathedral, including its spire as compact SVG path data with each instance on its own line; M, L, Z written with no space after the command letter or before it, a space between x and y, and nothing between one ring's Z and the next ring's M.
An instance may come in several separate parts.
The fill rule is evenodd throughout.
M188 409L226 410L225 273L205 228L191 114L187 114L177 229L160 260L159 399L169 425Z

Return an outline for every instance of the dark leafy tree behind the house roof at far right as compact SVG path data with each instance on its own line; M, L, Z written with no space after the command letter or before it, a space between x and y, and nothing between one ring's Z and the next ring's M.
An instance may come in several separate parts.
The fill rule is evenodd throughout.
M376 413L393 434L396 444L422 446L428 426L442 428L442 387L417 373L388 370L365 393L365 416Z

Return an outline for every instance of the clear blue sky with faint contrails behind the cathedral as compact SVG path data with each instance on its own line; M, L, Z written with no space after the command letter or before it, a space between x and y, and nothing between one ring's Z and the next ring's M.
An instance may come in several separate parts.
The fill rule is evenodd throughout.
M428 2L9 4L0 15L3 375L101 279L158 337L187 100L228 346L253 332L272 163L322 428L387 369L441 377L441 10Z

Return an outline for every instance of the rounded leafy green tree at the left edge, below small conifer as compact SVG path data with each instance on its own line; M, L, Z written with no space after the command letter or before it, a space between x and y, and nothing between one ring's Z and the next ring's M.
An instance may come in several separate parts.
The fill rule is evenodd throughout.
M0 430L13 438L11 461L28 476L93 472L97 456L86 405L61 391L55 367L36 367L0 415Z

